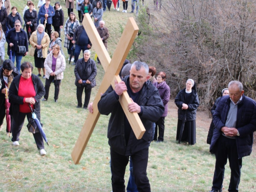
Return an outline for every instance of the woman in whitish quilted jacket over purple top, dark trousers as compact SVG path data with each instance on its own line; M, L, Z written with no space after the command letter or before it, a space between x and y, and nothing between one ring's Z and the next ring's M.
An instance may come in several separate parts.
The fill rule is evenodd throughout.
M45 60L45 69L46 69L46 94L42 101L47 101L49 96L49 90L51 82L54 80L54 101L57 102L59 96L59 86L60 81L63 79L63 72L66 69L66 60L65 57L61 54L59 46L55 44L52 47L52 51L47 55Z

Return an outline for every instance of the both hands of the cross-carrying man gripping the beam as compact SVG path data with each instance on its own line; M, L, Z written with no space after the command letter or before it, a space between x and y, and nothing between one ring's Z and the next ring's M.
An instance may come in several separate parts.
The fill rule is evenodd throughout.
M127 91L127 87L124 81L120 81L119 83L117 83L117 81L115 80L115 92L117 95L122 95L124 91ZM131 103L128 104L128 111L131 113L140 113L140 105L138 105L136 102L133 101L133 99L131 98Z

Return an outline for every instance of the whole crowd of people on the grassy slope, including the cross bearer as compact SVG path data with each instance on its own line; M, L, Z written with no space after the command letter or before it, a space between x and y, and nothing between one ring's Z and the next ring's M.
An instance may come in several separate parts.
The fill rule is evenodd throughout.
M93 17L94 25L100 38L108 50L110 36L105 22L102 20L106 10L106 1L81 0L76 1L78 19L73 9L74 0L66 0L68 19L65 22L64 13L59 2L52 7L50 0L39 0L37 8L28 1L23 11L23 18L17 12L17 7L11 7L10 1L0 0L0 131L3 129L5 117L5 98L9 94L11 102L11 125L13 145L19 145L19 135L25 117L32 117L31 109L35 110L40 121L40 100L48 101L51 83L54 82L54 102L58 101L61 80L66 69L66 58L62 49L61 31L65 34L64 47L68 50L69 60L74 68L77 108L89 109L93 113L92 103L89 104L92 88L96 86L97 66L91 59L93 46L86 30L80 25L84 14ZM160 9L162 2L160 3ZM154 1L158 6L158 1ZM127 12L128 1L123 1L123 12ZM138 0L132 1L132 12L137 7ZM119 10L119 2L118 8ZM157 9L157 8L156 8ZM11 13L10 13L11 12ZM24 22L23 22L24 19ZM65 22L65 23L64 23ZM23 25L24 24L24 25ZM22 27L26 27L26 31ZM54 29L54 31L53 31ZM5 60L5 42L8 44ZM29 46L30 45L30 46ZM80 52L83 57L79 58ZM23 62L27 54L34 57L38 74L34 75L33 65ZM14 62L16 59L16 67ZM97 58L98 59L98 58ZM98 59L97 63L101 62ZM20 73L21 70L21 73ZM43 74L42 74L43 73ZM45 86L40 80L45 80ZM98 110L103 115L111 113L108 138L111 154L111 173L113 191L124 191L125 167L130 157L130 180L127 191L151 191L146 176L148 148L152 141L164 141L164 120L168 113L170 88L166 82L166 73L141 61L125 60L122 68L122 81L111 86L98 103ZM82 93L85 97L82 103ZM131 113L138 113L146 129L142 139L137 140L130 122L122 109L119 97L127 91L132 102L127 106ZM256 102L244 96L242 83L231 81L228 88L222 90L212 107L213 116L207 143L210 152L216 155L212 192L222 191L222 182L227 158L231 168L229 191L238 191L240 182L242 157L248 156L252 148L252 133L256 131ZM41 99L44 97L43 99ZM176 140L178 143L196 144L196 114L199 107L196 82L188 78L185 88L175 97L178 107L178 123ZM247 110L246 117L243 116ZM8 131L7 131L8 132ZM46 155L44 141L40 132L33 133L40 155Z

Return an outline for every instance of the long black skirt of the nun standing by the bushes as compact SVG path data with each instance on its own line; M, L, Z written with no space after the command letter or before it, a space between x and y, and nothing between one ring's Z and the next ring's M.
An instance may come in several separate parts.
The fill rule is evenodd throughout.
M179 140L180 128L182 125L182 120L178 119L176 140ZM184 125L184 130L181 136L181 141L188 142L189 145L196 144L196 120L186 121Z

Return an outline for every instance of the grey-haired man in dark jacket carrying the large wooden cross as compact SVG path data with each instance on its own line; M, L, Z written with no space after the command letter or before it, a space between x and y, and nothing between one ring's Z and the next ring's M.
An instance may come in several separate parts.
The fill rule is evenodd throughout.
M152 121L156 122L161 117L164 106L158 90L148 81L149 78L146 63L135 61L131 67L130 76L116 83L115 90L110 87L98 102L100 114L111 113L108 138L113 192L125 191L124 173L129 156L133 160L133 174L138 191L151 191L150 182L146 176L148 147L151 142ZM124 91L127 91L133 101L127 106L129 112L138 113L146 129L139 140L136 139L119 102L119 96Z

